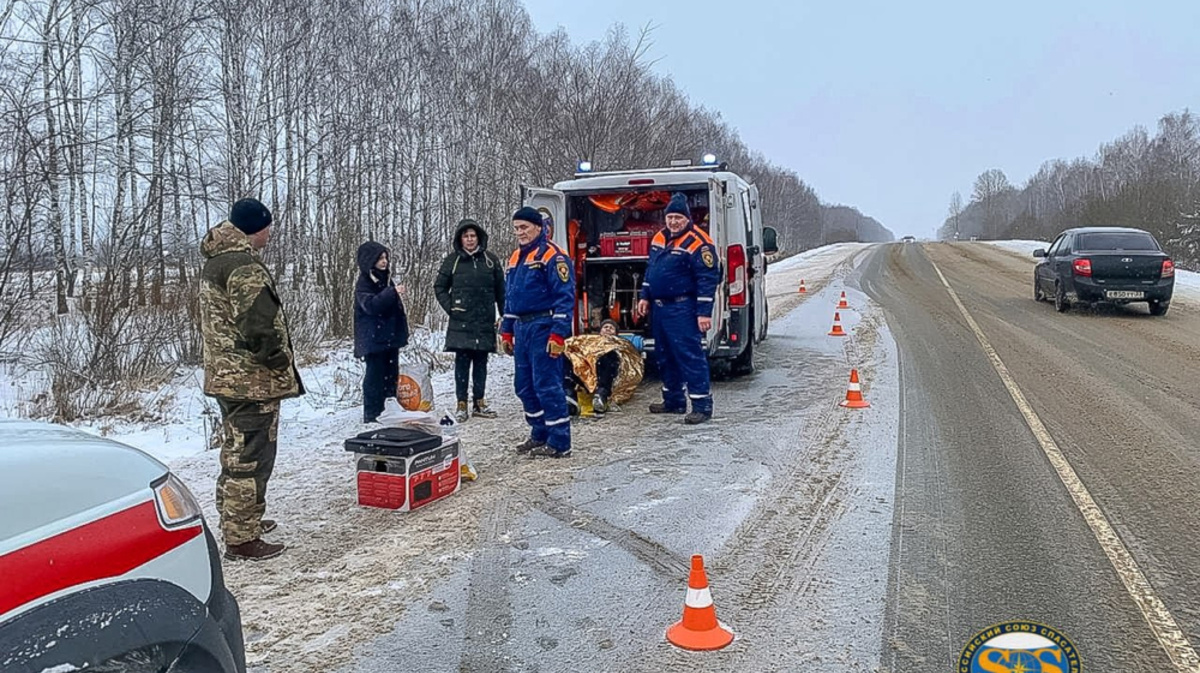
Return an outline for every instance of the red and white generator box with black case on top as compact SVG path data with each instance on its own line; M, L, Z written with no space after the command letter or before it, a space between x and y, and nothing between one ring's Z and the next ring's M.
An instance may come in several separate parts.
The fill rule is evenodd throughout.
M458 491L457 437L382 427L344 441L358 456L359 504L412 511Z

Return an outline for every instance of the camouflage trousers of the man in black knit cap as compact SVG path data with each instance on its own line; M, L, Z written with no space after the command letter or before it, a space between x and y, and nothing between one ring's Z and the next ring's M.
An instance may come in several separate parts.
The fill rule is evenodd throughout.
M217 399L224 423L217 512L226 545L241 545L263 534L266 480L275 469L280 402Z

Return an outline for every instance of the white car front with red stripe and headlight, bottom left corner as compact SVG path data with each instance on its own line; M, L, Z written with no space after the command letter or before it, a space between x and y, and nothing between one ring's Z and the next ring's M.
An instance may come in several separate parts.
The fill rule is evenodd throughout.
M241 673L196 499L149 455L0 420L0 671Z

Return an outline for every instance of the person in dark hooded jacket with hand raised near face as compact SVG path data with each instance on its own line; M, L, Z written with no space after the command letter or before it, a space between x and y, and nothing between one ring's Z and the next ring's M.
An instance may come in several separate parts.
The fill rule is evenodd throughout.
M354 356L366 360L362 421L374 422L384 401L396 396L400 349L408 345L408 316L390 282L388 248L376 241L359 246L354 286Z

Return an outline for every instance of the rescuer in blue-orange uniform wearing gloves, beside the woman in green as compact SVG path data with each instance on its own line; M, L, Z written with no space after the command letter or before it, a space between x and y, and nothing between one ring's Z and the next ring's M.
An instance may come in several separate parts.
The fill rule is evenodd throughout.
M570 257L546 236L536 210L516 211L512 232L518 247L505 272L500 338L516 359L514 384L530 428L517 451L565 458L571 455L571 419L563 393L563 351L571 335L575 271Z

